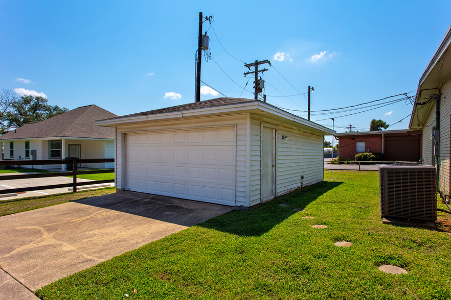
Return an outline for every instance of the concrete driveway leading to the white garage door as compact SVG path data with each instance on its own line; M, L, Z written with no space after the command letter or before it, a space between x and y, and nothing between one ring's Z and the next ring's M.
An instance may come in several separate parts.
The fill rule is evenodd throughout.
M0 265L35 291L232 210L234 207L118 192L8 215L0 217ZM0 276L0 298L5 299L2 296L8 291L2 287L8 286L2 285Z

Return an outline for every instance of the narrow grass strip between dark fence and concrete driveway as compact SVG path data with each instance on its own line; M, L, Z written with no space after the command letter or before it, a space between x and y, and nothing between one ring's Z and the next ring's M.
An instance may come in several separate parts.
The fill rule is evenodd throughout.
M105 195L116 192L115 187L96 190L85 190L76 193L54 194L38 197L26 197L11 200L0 200L0 216L10 215L46 206L62 204L70 201Z

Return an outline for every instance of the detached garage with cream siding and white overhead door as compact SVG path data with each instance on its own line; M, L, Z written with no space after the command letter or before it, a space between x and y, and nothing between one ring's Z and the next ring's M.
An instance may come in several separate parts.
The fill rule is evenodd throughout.
M216 98L97 121L116 128L116 188L252 207L324 178L335 132L267 103Z

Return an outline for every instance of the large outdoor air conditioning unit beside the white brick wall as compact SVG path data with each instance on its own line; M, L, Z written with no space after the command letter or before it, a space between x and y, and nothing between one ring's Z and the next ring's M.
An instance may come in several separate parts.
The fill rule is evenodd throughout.
M434 166L412 163L381 165L379 192L383 217L437 219Z

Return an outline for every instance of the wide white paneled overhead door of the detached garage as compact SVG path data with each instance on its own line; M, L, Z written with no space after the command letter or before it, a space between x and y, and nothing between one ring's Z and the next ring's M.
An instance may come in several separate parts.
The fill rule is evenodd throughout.
M235 206L235 128L128 133L126 189Z

